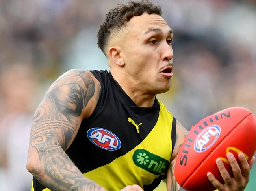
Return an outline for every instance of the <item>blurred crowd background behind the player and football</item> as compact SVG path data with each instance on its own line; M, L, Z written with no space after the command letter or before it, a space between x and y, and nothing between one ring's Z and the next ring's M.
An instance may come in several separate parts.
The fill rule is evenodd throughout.
M125 2L0 0L1 191L30 190L26 158L33 112L69 69L108 70L96 33L108 10ZM158 99L188 130L227 107L256 115L256 1L153 2L174 31L172 87ZM255 180L256 164L246 191L255 191Z

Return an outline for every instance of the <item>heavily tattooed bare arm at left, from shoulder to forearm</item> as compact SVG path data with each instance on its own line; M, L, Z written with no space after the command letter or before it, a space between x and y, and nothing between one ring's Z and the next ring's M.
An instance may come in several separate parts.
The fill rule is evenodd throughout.
M95 109L99 94L100 84L90 72L71 70L51 85L35 111L27 169L48 189L105 190L85 178L65 153L83 118Z

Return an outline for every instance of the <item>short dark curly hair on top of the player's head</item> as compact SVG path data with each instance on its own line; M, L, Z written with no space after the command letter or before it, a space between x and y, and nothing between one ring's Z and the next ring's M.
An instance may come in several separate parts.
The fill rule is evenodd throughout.
M98 29L98 47L105 54L105 46L113 29L121 29L121 27L134 16L140 16L143 13L162 15L160 5L154 5L149 0L139 2L130 1L128 4L118 4L115 9L111 9L107 14L104 22L100 24ZM105 54L106 56L106 54Z

